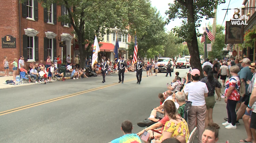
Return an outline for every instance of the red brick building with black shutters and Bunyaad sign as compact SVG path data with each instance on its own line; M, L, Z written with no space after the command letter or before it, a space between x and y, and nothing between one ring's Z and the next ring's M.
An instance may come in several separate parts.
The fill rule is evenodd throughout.
M65 63L67 55L73 57L73 27L70 23L58 22L59 16L67 15L64 6L53 3L43 8L37 0L19 3L18 0L5 0L0 3L0 71L4 71L4 56L8 61L24 56L26 65L61 55ZM16 38L16 40L15 40ZM9 42L11 42L8 45ZM60 42L65 41L63 47ZM28 66L27 66L28 67ZM10 70L12 71L12 66Z

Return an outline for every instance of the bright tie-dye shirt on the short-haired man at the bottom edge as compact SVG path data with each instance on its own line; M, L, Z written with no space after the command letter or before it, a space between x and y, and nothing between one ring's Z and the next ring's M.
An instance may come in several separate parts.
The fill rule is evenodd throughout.
M137 134L126 134L111 141L111 143L141 143L141 140Z

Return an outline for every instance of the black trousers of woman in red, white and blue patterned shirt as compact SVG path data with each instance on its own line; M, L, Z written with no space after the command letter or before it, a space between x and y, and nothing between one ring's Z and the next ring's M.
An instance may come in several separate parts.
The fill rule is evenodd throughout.
M228 122L232 123L232 125L236 125L236 103L235 100L229 100L227 101L227 111L228 111Z

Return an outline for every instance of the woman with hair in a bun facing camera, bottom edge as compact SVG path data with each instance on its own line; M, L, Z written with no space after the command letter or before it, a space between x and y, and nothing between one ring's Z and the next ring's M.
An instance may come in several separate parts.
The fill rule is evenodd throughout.
M217 143L219 140L219 125L216 123L209 123L202 135L203 143Z

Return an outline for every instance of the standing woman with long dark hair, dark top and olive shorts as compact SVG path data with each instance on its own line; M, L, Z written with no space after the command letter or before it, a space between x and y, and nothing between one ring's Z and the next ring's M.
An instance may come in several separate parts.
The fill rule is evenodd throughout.
M204 82L208 88L208 96L205 97L205 105L206 105L206 114L205 114L205 127L207 127L208 123L212 123L212 111L215 104L214 91L215 88L221 88L221 83L214 78L213 71L210 65L205 65L203 67L204 78L201 79L201 82Z

